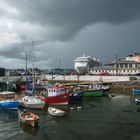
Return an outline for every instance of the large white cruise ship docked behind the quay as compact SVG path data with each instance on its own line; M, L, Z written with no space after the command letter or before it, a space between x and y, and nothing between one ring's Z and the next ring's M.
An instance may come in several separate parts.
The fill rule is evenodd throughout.
M100 61L96 57L91 58L90 56L86 55L77 57L74 62L74 68L79 74L86 74L89 68L100 65Z

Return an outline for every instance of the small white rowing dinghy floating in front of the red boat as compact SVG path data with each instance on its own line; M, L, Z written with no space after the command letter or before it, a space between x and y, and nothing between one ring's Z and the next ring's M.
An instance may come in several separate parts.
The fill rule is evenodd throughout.
M48 107L48 113L51 115L51 116L58 116L58 117L61 117L61 116L64 116L65 115L65 111L64 110L61 110L59 108L56 108L56 107Z

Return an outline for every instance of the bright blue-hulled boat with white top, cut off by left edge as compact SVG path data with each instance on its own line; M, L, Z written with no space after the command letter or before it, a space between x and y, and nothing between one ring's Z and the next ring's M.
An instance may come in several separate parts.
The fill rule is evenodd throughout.
M0 92L0 109L18 109L19 100L15 92Z

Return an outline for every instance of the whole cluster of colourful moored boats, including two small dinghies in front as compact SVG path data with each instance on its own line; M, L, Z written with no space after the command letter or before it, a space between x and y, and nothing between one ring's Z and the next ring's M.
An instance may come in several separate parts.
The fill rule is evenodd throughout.
M66 111L60 106L83 101L84 97L106 96L109 90L109 86L104 86L101 83L62 85L59 83L49 84L48 82L45 88L39 87L39 85L26 85L22 95L11 91L0 92L0 109L17 109L19 122L35 127L38 125L39 116L29 111L19 111L21 110L20 108L22 110L24 108L47 109L52 116L63 116L66 114Z

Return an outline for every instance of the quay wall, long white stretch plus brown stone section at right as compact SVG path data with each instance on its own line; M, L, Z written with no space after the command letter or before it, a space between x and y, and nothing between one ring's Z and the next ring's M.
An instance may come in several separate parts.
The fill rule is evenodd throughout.
M111 83L112 89L130 90L130 89L140 89L140 80L129 80L129 76L89 76L89 75L40 75L36 76L41 79L54 80L54 81L66 81L66 82L99 82ZM10 76L10 77L0 77L0 81L16 81L18 79L25 80L26 77L23 76Z

